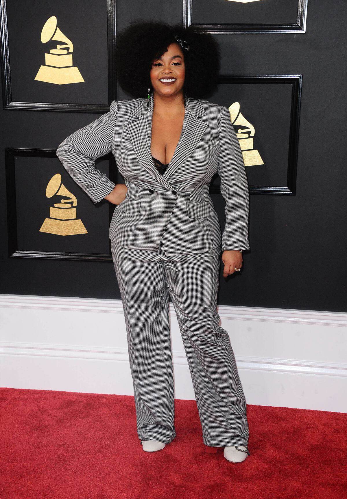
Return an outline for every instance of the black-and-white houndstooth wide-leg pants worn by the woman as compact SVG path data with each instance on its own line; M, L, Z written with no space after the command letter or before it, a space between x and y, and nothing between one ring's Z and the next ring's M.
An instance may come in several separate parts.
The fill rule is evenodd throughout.
M132 250L111 240L123 303L137 435L170 443L174 386L169 295L185 349L203 443L211 447L248 443L246 402L229 335L216 311L220 248L166 256Z

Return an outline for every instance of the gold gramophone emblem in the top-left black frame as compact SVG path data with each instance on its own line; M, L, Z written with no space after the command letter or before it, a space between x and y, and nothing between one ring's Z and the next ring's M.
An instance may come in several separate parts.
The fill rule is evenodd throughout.
M41 65L35 80L65 85L66 83L80 83L83 80L79 69L72 66L72 42L57 27L55 15L49 17L41 31L41 42L47 43L50 40L62 41L64 45L56 45L45 53L45 65ZM66 50L65 47L68 47Z

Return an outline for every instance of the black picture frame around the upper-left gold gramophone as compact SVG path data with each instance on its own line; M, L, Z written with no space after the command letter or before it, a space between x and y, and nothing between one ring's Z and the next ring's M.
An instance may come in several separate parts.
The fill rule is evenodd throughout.
M107 86L108 101L117 100L117 80L115 68L116 44L116 1L105 0L107 6ZM76 113L103 113L109 111L109 105L97 103L71 104L50 102L18 102L12 100L11 72L9 60L6 0L0 0L0 42L1 42L1 77L2 108L29 111L58 111Z

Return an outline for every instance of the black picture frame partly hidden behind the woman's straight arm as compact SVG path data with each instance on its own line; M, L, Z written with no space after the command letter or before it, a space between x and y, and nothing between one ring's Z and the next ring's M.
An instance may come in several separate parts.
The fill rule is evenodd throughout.
M291 85L286 185L249 185L249 194L295 196L302 74L220 74L218 77L218 85L225 83L246 83L258 85L263 83L273 83ZM220 193L220 186L214 185L212 182L210 192Z

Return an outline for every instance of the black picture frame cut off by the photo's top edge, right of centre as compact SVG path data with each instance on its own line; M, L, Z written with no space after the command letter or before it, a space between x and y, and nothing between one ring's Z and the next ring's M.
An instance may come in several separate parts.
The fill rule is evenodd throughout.
M183 26L193 26L196 31L208 33L305 33L307 0L297 0L297 18L294 23L268 24L195 24L192 22L192 3L194 0L183 0Z

